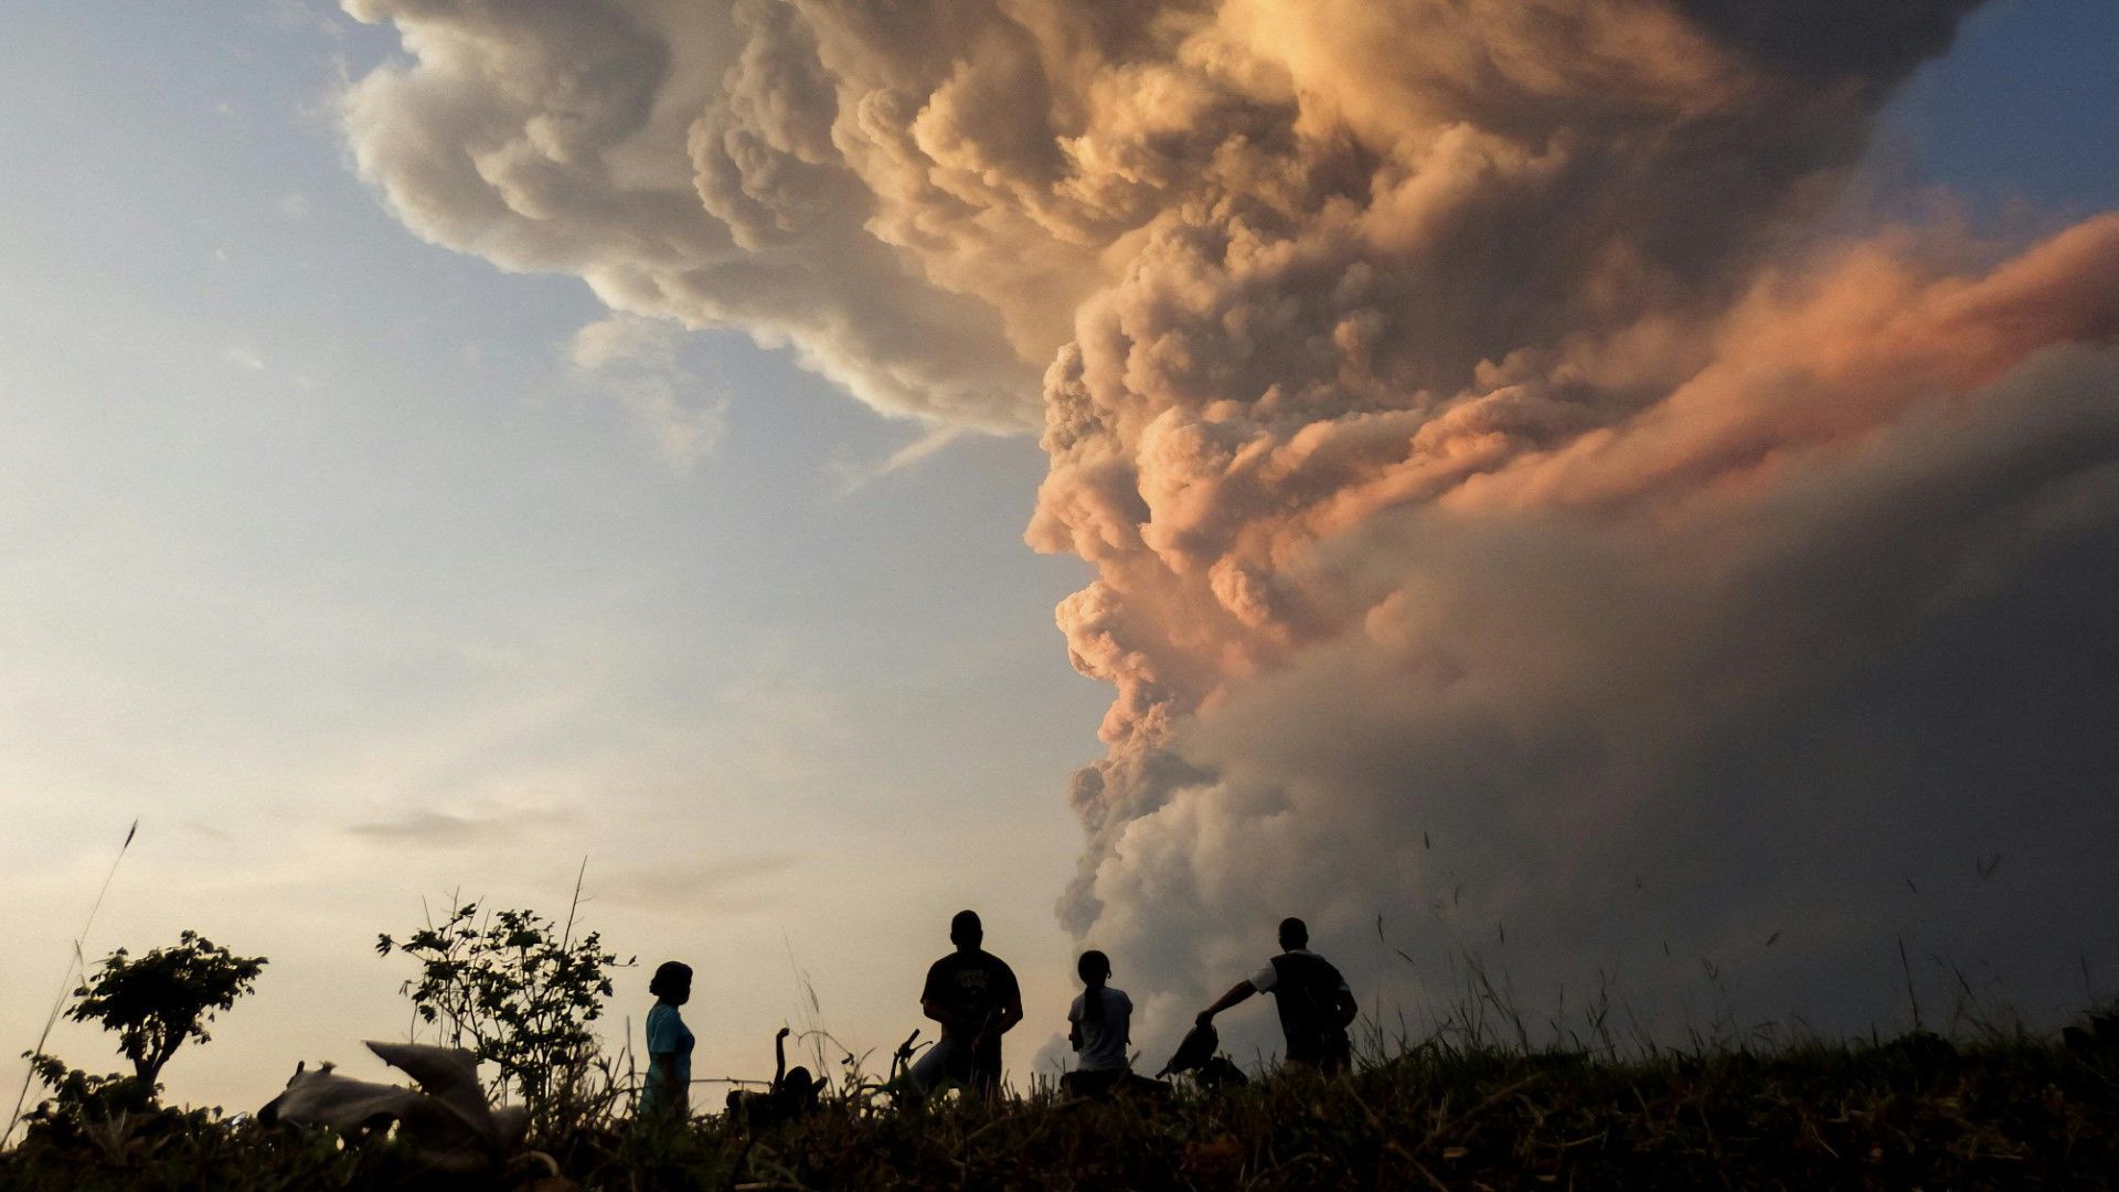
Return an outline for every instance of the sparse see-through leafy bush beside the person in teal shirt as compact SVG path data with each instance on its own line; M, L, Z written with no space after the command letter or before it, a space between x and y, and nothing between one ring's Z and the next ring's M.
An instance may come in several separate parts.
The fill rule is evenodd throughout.
M572 918L566 927L532 910L481 918L473 901L403 940L379 935L375 952L420 963L420 976L405 982L420 1020L496 1065L500 1097L513 1090L532 1109L547 1109L595 1063L591 1022L602 1018L621 965L595 931L574 940Z

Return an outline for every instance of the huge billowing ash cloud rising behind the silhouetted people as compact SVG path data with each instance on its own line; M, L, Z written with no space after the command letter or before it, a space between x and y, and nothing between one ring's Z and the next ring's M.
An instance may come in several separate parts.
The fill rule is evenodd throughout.
M1303 912L1858 1022L2119 957L2119 216L1805 231L1969 6L350 0L345 119L437 242L1043 407L1062 918L1172 1007Z

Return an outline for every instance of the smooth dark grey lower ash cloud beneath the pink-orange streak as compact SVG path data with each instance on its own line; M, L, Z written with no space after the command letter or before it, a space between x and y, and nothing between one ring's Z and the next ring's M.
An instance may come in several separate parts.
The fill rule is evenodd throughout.
M2115 382L2047 356L1964 422L1653 524L1371 520L1314 564L1369 613L1157 744L1189 772L1115 821L1091 937L1195 995L1280 914L1350 959L1382 914L1411 1005L1471 950L1541 1012L1621 974L1666 1029L1706 1024L1702 961L1746 1020L1903 1018L1903 937L1930 1014L1928 957L2072 1010L2119 954L2119 679L2083 649L2119 632Z

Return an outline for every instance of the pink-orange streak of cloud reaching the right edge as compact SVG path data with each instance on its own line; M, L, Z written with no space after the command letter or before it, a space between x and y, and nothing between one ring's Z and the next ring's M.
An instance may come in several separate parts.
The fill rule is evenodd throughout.
M1977 278L1865 244L1769 276L1714 331L1716 358L1670 399L1562 450L1513 460L1454 501L1596 503L1771 484L1810 452L1992 384L2055 344L2119 337L2119 214Z

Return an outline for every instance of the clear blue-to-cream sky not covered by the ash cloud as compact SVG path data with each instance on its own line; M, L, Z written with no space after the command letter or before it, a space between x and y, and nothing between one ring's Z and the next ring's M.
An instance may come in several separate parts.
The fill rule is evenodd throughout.
M1021 543L1028 437L892 469L926 426L735 333L581 367L583 282L422 244L354 176L331 104L388 30L87 2L0 45L0 1035L133 814L87 950L273 959L180 1097L400 1031L375 931L555 908L583 855L621 950L699 963L701 1069L761 1067L790 959L850 1041L901 1037L966 904L1053 1018L1108 689L1053 628L1087 568ZM2002 235L2115 206L2115 45L2100 0L1990 4L1875 178ZM629 384L710 445L672 460Z

